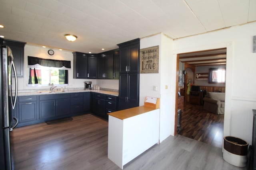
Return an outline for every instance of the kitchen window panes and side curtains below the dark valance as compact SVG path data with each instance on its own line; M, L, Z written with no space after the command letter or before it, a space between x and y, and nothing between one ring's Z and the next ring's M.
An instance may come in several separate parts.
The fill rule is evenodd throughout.
M30 68L28 84L48 85L48 84L68 84L68 70L56 68Z

